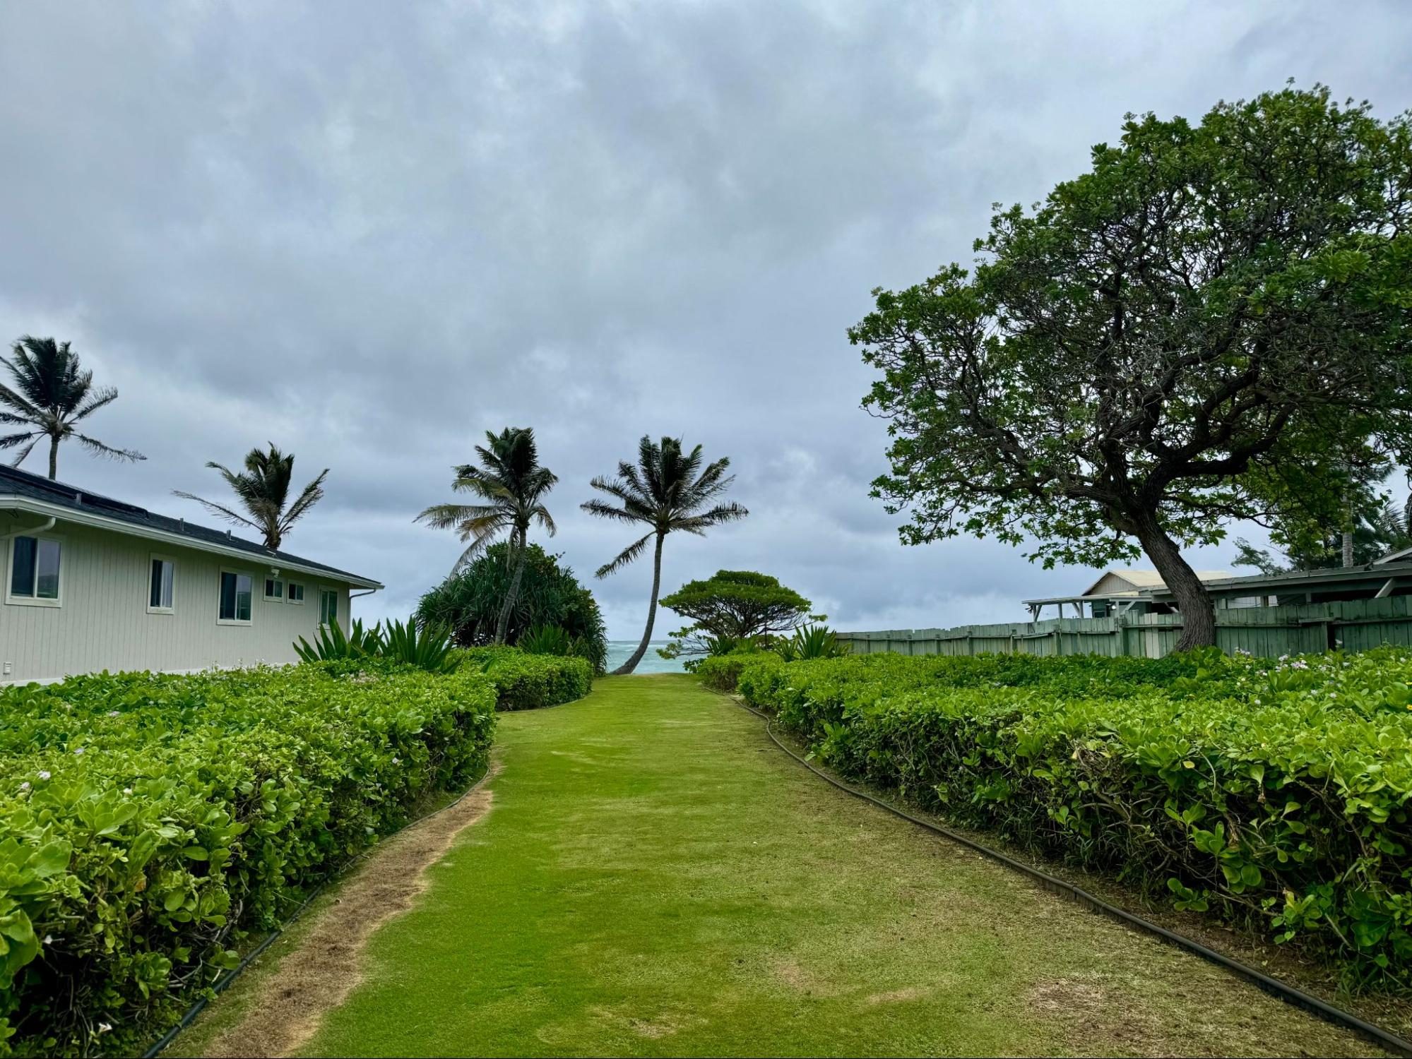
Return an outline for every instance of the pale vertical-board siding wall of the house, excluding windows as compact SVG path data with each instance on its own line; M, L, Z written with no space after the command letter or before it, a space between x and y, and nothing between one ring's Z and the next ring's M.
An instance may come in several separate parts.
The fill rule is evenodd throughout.
M23 532L23 530L20 531ZM304 604L267 602L270 563L241 561L59 521L38 534L62 541L59 606L10 602L14 539L0 542L0 683L54 681L102 669L188 672L297 661L297 637L319 624L319 589L339 593L339 624L349 623L349 585L329 576L284 570L305 586ZM172 613L150 613L151 559L175 565ZM249 626L217 624L220 572L249 573Z

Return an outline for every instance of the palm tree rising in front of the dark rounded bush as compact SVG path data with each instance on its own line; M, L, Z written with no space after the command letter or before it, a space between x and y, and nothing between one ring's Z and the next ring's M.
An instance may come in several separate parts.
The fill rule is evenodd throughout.
M554 537L556 527L544 505L544 497L559 479L548 467L539 466L531 426L507 426L500 433L486 431L486 445L477 445L476 455L480 456L481 466L466 463L456 467L452 489L470 493L483 503L435 504L417 515L417 521L436 530L456 530L460 539L469 542L456 561L453 573L463 569L496 537L508 531L505 562L514 563L515 572L496 621L496 642L503 644L525 572L530 522L539 522Z

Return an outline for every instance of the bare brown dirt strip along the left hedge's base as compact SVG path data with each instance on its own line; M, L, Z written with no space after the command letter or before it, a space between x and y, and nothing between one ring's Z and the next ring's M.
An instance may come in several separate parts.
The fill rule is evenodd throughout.
M491 767L491 777L498 765ZM489 779L489 777L487 777ZM313 1036L323 1014L363 980L361 953L384 922L408 911L431 885L426 868L456 836L490 812L491 791L463 799L388 839L304 925L299 947L263 983L244 1015L202 1051L205 1056L282 1056Z

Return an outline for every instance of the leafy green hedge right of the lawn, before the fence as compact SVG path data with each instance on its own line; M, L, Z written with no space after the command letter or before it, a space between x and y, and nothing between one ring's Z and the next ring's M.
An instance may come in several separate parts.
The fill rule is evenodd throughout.
M738 689L842 774L1412 983L1412 652L867 655Z

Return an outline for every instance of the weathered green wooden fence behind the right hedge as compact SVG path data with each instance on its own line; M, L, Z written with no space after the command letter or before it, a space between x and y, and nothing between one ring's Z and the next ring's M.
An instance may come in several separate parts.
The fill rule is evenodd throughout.
M1101 618L1049 618L956 628L894 628L839 633L854 654L904 655L1139 655L1161 658L1176 647L1180 614L1124 614ZM1412 596L1305 603L1289 607L1216 610L1216 642L1227 651L1279 657L1327 651L1367 651L1382 644L1412 645Z

